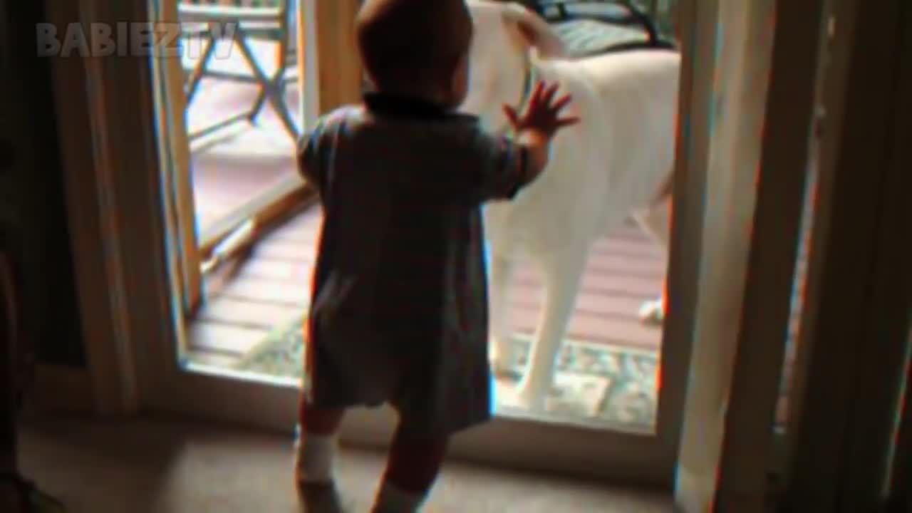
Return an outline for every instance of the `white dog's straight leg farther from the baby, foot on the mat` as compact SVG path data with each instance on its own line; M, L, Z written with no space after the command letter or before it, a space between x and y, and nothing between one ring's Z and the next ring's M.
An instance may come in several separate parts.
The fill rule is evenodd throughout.
M536 258L544 278L544 308L525 375L516 389L517 402L530 411L544 411L554 386L554 364L574 311L588 249L583 244L571 245Z

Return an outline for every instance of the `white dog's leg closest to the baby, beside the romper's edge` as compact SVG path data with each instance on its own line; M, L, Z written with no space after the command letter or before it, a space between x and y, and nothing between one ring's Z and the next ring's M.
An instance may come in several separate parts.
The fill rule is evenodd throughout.
M515 377L516 354L510 323L510 282L515 267L513 256L491 255L491 343L492 368L497 376Z

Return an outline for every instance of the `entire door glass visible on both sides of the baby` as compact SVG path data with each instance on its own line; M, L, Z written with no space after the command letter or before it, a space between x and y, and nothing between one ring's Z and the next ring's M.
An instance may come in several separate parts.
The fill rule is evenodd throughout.
M463 110L479 115L491 131L502 130L503 103L521 103L534 79L555 72L526 49L538 47L546 57L554 37L572 55L599 54L602 70L593 80L651 91L602 97L566 79L584 122L555 143L551 169L540 181L513 203L489 204L484 211L496 413L651 433L667 267L665 186L673 168L679 81L677 54L661 48L676 45L670 37L675 3L643 2L636 15L618 5L596 2L586 13L549 15L545 26L514 11L504 17L498 11L503 5L472 5L475 37ZM650 12L656 41L637 17ZM630 44L660 49L637 54ZM263 43L257 55L273 62L275 42ZM218 67L239 68L239 58L241 52L232 51ZM644 66L647 73L636 72ZM256 99L254 86L233 80L203 79L200 88L188 110L192 130ZM286 102L294 104L297 94L289 84ZM291 138L267 110L256 127L194 147L198 211L209 213L203 215L217 217L218 204L249 198L294 172ZM612 126L633 134L632 145L618 148L623 152L610 152L601 139ZM617 159L621 154L626 160ZM207 275L206 304L189 323L181 359L238 378L300 382L302 324L321 221L316 206L307 208L259 236L244 258L232 257ZM248 235L237 234L242 240Z

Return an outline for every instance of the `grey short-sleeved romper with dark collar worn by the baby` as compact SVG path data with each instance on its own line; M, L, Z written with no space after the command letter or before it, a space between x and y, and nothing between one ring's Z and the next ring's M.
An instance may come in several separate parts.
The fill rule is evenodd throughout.
M298 165L323 207L309 403L390 403L419 435L490 418L481 206L529 183L527 164L476 118L376 93L306 133Z

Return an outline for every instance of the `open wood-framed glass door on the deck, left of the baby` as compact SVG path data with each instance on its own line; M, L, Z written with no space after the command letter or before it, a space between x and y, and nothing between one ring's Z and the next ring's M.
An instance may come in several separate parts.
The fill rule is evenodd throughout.
M293 215L305 199L294 170L304 101L295 0L166 0L180 58L157 59L159 133L180 248L183 308L212 295L226 260ZM174 31L177 33L177 30Z

